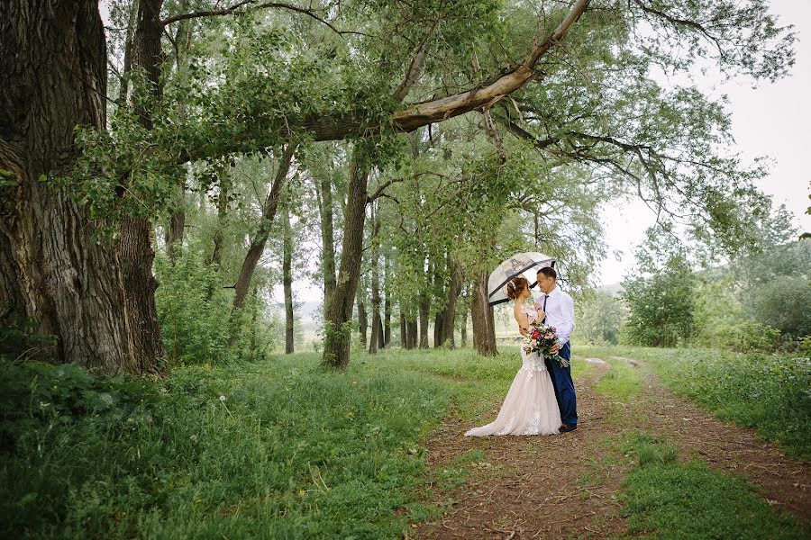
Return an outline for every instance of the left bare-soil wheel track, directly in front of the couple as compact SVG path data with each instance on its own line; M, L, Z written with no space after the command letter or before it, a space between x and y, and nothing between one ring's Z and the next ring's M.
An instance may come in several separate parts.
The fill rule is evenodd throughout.
M605 405L592 391L608 369L608 365L595 365L590 374L575 381L576 431L546 437L463 437L472 426L460 419L451 419L435 431L427 449L434 472L456 466L461 455L476 449L485 451L493 468L455 489L442 491L434 486L438 500L450 498L451 507L441 519L416 527L412 537L602 538L623 531L614 495L624 478L622 467L606 464L597 487L580 482L593 460L600 458L595 455L596 443L616 431L606 418ZM500 406L494 404L481 423L495 418Z

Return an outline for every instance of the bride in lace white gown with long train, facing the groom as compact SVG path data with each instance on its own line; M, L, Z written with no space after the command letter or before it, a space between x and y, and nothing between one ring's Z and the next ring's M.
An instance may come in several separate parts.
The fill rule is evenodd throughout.
M530 296L529 284L524 277L515 277L507 284L507 297L515 301L513 313L522 333L535 320L543 320L543 311L526 305ZM521 347L521 359L524 364L515 374L496 420L487 426L470 429L465 433L466 437L558 433L560 410L543 358L535 352L527 354Z

